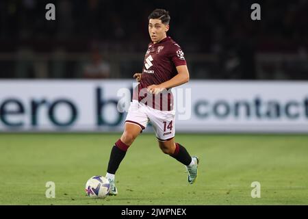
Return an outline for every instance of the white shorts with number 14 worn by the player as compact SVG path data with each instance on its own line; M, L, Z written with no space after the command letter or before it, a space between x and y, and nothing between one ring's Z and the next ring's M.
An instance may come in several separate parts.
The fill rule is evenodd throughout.
M133 100L129 106L125 123L138 125L142 131L149 122L153 125L159 141L164 142L175 137L175 110L155 110L144 103Z

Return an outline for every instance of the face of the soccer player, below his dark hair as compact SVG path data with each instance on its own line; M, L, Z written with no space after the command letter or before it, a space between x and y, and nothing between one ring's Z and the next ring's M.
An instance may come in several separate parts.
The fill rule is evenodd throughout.
M149 34L153 43L166 38L168 29L169 25L164 25L159 19L150 19L149 21Z

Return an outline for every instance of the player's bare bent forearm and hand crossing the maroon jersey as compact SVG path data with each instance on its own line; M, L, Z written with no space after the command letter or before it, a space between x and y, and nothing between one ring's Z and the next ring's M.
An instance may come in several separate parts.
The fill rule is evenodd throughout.
M187 83L190 80L190 73L188 72L188 68L186 65L177 66L177 75L172 77L172 79L165 81L164 83L160 83L158 85L153 84L148 86L148 91L157 94L162 92L164 89L174 88L176 86L180 86L183 83Z

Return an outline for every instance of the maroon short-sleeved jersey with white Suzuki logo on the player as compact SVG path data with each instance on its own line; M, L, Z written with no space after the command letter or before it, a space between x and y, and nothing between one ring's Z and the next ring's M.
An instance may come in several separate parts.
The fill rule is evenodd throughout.
M156 110L172 110L173 96L171 89L155 95L147 92L146 88L172 79L177 75L176 66L182 65L186 65L184 53L179 44L172 40L170 36L155 44L151 42L144 56L142 77L138 85L138 101ZM137 99L137 96L134 99Z

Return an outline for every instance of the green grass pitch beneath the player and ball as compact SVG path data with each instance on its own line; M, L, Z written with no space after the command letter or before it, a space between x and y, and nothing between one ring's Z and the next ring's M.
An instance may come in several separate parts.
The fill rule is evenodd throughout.
M0 205L307 205L308 136L177 134L198 155L198 179L159 150L154 134L130 147L118 196L92 199L84 186L105 175L119 133L0 134ZM47 181L55 198L46 198ZM252 198L251 183L261 184Z

